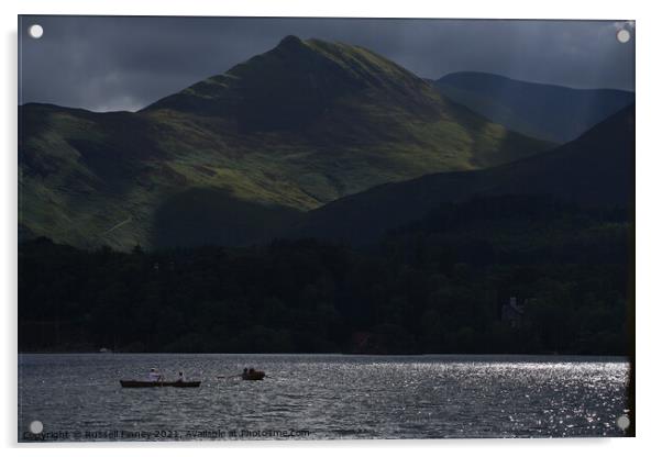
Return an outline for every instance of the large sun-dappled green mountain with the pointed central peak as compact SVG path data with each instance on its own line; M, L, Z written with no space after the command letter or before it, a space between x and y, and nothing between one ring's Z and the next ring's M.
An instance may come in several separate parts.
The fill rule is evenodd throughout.
M19 119L21 235L121 249L245 244L377 185L550 147L368 49L294 36L137 113Z

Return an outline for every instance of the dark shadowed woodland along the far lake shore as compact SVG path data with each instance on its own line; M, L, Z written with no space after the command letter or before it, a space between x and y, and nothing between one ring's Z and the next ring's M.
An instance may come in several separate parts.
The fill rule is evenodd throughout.
M37 238L19 246L19 349L626 354L628 221L511 196L442 204L362 249Z

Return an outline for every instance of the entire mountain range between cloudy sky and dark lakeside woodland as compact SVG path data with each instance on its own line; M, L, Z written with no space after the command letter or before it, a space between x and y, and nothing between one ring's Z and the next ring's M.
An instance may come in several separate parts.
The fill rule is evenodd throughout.
M604 120L626 99L493 75L432 85L366 48L287 36L136 113L19 107L19 234L118 249L365 242L481 192L622 203L633 111ZM515 132L558 142L594 121L551 152Z

